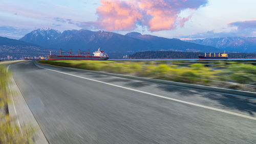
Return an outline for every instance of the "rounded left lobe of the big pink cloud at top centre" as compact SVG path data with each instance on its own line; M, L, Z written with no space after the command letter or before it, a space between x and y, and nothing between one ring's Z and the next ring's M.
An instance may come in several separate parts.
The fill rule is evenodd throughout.
M109 31L133 30L136 22L143 18L136 5L118 0L101 0L97 14L98 27Z

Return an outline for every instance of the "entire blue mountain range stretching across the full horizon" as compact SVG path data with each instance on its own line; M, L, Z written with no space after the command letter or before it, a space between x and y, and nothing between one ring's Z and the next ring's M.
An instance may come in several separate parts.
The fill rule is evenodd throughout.
M26 56L47 56L59 49L82 51L101 50L111 58L122 58L145 51L202 52L202 53L256 53L255 37L206 38L182 41L176 38L164 38L142 35L137 32L121 35L105 31L67 30L62 33L53 29L37 29L19 40L0 37L0 57L12 55L17 58ZM216 48L217 47L217 48Z

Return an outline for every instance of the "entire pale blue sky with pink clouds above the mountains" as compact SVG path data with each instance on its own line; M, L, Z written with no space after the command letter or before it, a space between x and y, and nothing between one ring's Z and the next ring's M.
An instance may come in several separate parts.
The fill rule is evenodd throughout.
M139 32L166 38L256 37L255 0L0 0L0 36L32 30Z

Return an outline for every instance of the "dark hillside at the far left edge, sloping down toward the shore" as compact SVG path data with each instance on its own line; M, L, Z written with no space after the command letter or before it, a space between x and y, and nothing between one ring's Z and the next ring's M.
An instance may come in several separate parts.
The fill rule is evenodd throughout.
M0 58L6 58L8 55L17 59L28 56L47 56L49 51L52 50L25 41L0 37ZM53 51L53 53L56 52Z

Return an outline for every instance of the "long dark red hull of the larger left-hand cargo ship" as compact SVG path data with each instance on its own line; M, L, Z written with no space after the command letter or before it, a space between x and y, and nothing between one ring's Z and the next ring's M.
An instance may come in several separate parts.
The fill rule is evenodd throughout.
M49 55L48 60L108 60L109 57L94 56L55 56Z

